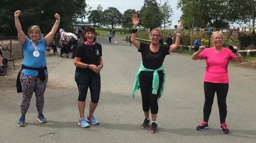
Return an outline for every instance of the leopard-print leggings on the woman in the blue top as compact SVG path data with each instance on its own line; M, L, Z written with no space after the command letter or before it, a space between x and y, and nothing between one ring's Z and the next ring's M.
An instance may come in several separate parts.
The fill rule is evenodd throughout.
M30 100L35 91L37 112L42 114L44 107L44 93L48 81L48 74L45 75L45 81L41 81L37 76L28 76L23 72L20 74L20 83L22 86L22 100L20 105L21 115L26 114L30 105Z

